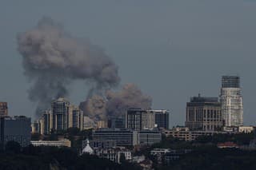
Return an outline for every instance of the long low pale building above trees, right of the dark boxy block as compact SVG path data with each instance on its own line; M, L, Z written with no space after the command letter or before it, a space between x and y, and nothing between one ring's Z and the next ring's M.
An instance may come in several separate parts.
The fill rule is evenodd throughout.
M71 141L62 140L31 140L33 146L54 146L54 147L71 147Z

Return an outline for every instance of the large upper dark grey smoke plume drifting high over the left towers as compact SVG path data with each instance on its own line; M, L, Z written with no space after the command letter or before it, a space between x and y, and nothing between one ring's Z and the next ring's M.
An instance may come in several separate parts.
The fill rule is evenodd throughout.
M104 90L119 83L118 66L98 45L72 37L50 18L42 18L17 39L26 77L32 83L29 97L38 103L37 113L48 109L51 100L66 97L74 80L90 81L94 89Z

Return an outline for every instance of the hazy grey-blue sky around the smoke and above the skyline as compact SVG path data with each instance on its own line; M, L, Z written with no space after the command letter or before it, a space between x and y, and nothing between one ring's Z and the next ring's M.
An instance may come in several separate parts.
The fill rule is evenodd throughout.
M190 97L218 97L222 75L241 77L244 124L255 125L256 0L2 0L0 101L10 115L34 118L16 36L43 16L62 22L77 38L90 38L116 62L122 84L134 83L169 109L171 125L184 125ZM89 87L70 86L70 101Z

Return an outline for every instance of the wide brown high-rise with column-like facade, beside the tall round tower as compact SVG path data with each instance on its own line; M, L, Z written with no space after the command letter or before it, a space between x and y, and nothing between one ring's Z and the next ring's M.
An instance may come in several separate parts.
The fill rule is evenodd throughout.
M218 97L191 97L186 103L185 124L190 130L220 130L222 114Z

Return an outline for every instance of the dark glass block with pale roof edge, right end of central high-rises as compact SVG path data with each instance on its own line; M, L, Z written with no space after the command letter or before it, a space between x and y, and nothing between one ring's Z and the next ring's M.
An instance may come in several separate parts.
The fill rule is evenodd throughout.
M154 112L155 125L158 128L169 129L170 112L168 110L152 110Z

